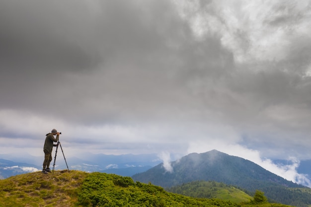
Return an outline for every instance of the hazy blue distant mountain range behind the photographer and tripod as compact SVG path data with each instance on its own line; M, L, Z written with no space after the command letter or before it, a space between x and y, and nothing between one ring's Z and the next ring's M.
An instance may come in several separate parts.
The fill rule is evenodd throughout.
M50 168L53 168L55 154ZM4 159L4 157L6 159ZM2 159L1 159L2 158ZM81 170L85 172L105 172L121 176L132 176L161 163L156 154L83 154L83 158L65 157L70 170ZM31 155L12 156L0 155L0 179L28 172L42 170L43 157ZM31 164L29 164L31 163ZM67 169L62 153L57 153L55 170Z

